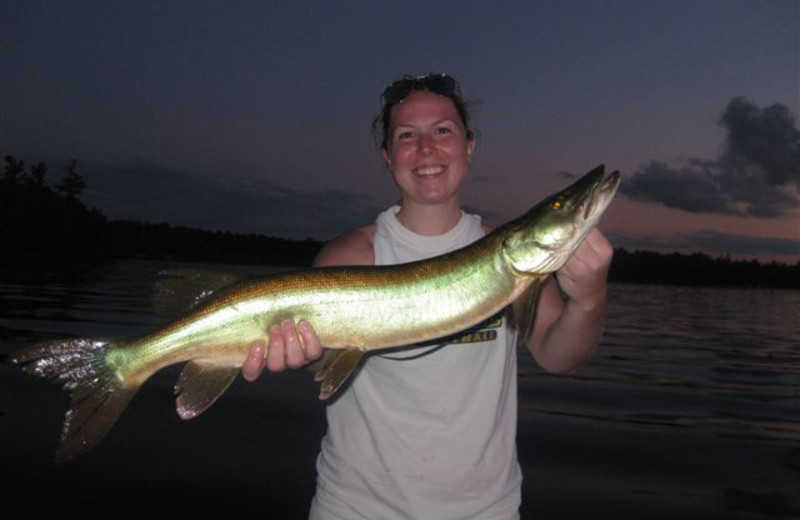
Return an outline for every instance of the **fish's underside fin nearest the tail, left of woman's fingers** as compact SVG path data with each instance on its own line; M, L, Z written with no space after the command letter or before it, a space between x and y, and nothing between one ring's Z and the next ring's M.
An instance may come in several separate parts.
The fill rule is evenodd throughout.
M180 418L194 419L205 412L231 386L240 370L210 361L187 363L175 384L175 408Z

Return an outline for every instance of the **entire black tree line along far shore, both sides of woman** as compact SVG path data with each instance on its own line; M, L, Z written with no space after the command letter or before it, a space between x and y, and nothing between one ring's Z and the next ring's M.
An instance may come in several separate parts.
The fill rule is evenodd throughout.
M204 231L166 223L109 221L80 197L86 177L76 159L49 182L43 162L4 158L0 179L0 273L45 270L116 258L308 266L323 243ZM51 187L52 185L52 187ZM763 264L703 253L617 249L609 279L621 283L800 288L800 262Z

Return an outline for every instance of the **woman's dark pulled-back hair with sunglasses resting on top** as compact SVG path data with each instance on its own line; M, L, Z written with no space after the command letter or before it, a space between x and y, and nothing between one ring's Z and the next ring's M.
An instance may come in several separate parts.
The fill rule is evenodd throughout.
M376 144L386 150L389 148L389 129L391 126L392 108L402 103L413 92L432 92L446 97L453 102L461 123L467 132L467 139L474 139L475 134L469 127L469 111L467 103L461 97L458 81L447 74L426 74L424 76L404 75L389 84L381 94L381 113L372 121L372 135Z

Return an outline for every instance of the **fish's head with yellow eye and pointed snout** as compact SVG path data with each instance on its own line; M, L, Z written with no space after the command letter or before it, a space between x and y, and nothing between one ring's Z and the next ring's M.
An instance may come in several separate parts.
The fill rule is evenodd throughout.
M606 174L598 166L507 224L503 255L512 269L520 274L558 270L600 220L619 182L618 171Z

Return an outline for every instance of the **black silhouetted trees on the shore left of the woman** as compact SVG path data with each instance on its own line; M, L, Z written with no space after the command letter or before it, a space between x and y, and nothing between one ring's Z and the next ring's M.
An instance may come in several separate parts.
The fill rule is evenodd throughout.
M256 265L310 265L322 242L203 231L166 223L115 220L80 201L86 176L67 161L49 182L39 162L4 157L0 179L0 267L6 276L116 258Z

